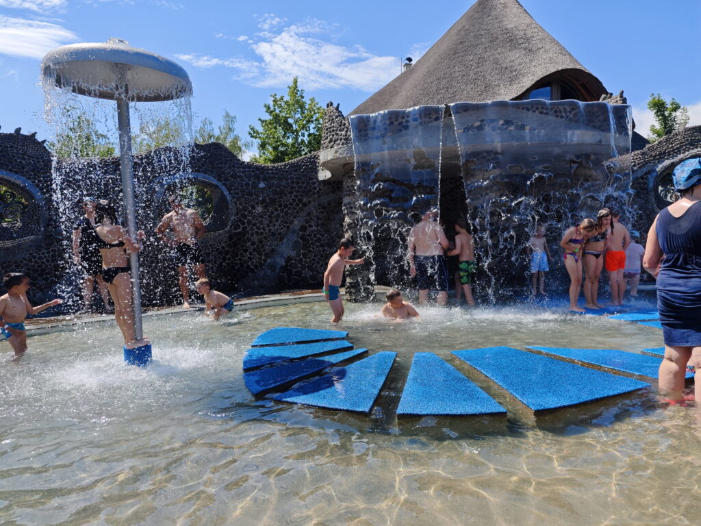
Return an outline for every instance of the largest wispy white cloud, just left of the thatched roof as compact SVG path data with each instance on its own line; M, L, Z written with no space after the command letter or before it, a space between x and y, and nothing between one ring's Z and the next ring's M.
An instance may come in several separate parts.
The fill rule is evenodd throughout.
M280 25L274 15L266 27ZM273 18L271 18L273 17ZM333 35L336 27L322 20L308 20L257 35L250 48L257 60L243 58L214 58L206 55L177 55L196 67L231 67L238 70L237 78L252 86L284 87L294 76L308 89L353 88L374 91L384 86L400 72L397 57L374 55L362 46L339 46L321 36Z

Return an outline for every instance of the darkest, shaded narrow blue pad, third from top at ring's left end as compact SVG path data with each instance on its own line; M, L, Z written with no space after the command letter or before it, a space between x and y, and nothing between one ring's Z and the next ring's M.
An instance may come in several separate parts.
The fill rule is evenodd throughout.
M245 382L246 387L251 393L260 395L268 391L273 391L276 387L294 382L294 380L304 379L331 365L364 353L367 353L367 349L354 349L353 351L332 354L322 358L309 358L308 360L285 363L283 365L276 365L275 367L268 367L267 369L246 372L243 375L243 382Z

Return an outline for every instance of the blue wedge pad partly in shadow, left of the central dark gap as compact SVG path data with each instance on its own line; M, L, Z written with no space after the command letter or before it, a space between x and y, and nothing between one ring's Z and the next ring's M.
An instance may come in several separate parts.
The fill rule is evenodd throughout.
M396 356L397 353L382 351L346 367L334 367L328 374L301 382L273 398L326 409L368 413Z

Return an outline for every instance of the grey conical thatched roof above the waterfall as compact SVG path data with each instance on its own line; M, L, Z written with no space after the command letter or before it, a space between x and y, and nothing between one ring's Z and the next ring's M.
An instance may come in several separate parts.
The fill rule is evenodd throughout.
M478 0L413 66L351 113L512 100L560 76L587 100L606 93L517 0Z

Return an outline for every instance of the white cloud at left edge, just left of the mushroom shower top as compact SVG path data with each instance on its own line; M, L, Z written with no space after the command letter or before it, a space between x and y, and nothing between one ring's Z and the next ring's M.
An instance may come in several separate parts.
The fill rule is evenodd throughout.
M60 25L0 15L0 55L42 58L78 35Z

